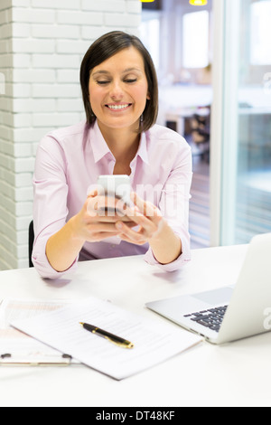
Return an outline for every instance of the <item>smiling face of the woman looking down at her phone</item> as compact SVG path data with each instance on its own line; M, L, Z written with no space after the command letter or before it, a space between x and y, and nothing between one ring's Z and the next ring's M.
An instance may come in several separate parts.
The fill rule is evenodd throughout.
M135 47L117 52L91 71L89 100L99 124L135 131L146 99L144 59Z

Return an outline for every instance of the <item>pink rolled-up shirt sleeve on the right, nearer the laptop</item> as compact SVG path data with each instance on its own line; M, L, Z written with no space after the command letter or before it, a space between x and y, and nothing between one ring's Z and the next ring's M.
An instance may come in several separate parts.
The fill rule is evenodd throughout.
M145 261L156 265L164 271L175 271L182 268L192 259L191 236L189 233L189 202L192 185L192 151L184 142L180 145L173 168L162 190L158 205L164 219L182 241L181 255L169 264L161 264L154 258L150 248L145 253Z

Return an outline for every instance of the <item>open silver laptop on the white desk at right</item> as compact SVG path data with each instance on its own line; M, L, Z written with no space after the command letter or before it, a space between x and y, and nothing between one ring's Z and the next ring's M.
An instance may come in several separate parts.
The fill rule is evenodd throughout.
M271 233L252 239L238 282L232 283L146 307L217 345L270 331Z

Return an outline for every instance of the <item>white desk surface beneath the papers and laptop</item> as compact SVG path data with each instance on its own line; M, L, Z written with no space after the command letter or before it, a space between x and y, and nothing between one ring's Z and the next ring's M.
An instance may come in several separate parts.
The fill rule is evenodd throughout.
M42 280L34 269L1 271L0 297L100 297L158 325L164 319L146 301L234 283L246 250L194 250L192 263L171 274L141 257L80 263L73 278L59 281ZM1 368L0 406L270 406L270 364L271 333L220 347L202 343L121 382L83 365Z

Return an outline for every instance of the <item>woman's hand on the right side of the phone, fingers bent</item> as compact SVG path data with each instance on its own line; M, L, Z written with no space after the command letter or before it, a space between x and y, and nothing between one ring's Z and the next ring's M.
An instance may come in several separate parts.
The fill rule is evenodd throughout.
M126 215L131 221L135 222L135 226L139 227L134 230L128 227L125 222L117 222L117 230L121 231L118 234L119 238L136 245L158 241L167 225L162 213L153 203L145 202L135 193L131 194L131 199L135 203L135 207L127 207Z

